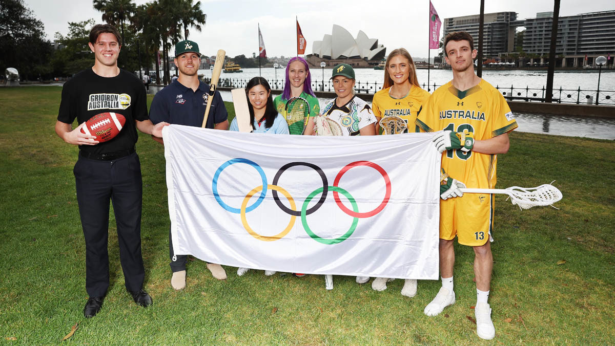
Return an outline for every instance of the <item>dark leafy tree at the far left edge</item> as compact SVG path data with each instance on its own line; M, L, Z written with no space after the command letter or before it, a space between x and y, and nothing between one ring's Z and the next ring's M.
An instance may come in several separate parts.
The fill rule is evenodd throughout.
M0 0L0 68L12 67L23 79L50 76L52 47L44 25L23 0Z

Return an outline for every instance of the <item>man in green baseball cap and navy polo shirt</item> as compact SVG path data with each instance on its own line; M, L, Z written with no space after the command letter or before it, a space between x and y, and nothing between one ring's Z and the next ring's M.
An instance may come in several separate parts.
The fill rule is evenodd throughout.
M149 119L154 124L168 122L169 124L201 127L207 107L207 99L210 96L209 85L199 81L197 74L200 66L199 45L190 40L177 42L175 45L175 60L173 61L179 70L179 77L177 81L156 93L149 108ZM209 114L205 127L215 128L216 130L228 129L228 113L220 92L216 91L213 95ZM154 140L164 144L162 138L154 137ZM183 289L186 286L186 260L188 256L174 253L170 230L169 256L171 271L173 272L171 286L173 289ZM213 277L218 280L226 279L226 272L220 264L208 263L207 268L212 272Z

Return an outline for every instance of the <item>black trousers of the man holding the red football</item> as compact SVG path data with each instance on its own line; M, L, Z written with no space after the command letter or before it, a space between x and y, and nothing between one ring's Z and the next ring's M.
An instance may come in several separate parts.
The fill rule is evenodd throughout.
M143 287L141 256L141 164L136 152L112 161L79 156L73 170L85 237L85 289L90 297L109 288L109 200L116 216L120 262L126 289Z

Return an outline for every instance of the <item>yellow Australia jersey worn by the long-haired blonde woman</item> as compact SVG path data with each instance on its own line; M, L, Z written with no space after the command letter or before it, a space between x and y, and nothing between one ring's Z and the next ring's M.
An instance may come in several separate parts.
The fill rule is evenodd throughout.
M405 98L392 98L389 96L391 87L379 90L374 94L371 101L371 110L379 118L386 116L398 116L402 118L408 127L407 132L418 132L415 120L421 111L421 106L427 101L430 94L416 85L412 85L410 92Z

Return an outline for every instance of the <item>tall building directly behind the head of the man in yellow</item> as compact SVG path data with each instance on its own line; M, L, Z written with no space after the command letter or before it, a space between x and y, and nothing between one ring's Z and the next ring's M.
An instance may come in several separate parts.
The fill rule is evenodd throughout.
M483 57L496 57L498 53L512 52L515 49L515 26L517 12L496 12L484 15ZM445 18L442 24L444 37L453 31L467 31L474 39L478 49L478 26L480 15Z

